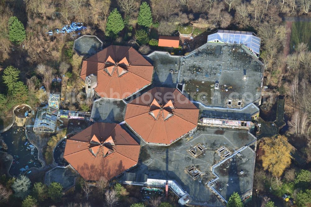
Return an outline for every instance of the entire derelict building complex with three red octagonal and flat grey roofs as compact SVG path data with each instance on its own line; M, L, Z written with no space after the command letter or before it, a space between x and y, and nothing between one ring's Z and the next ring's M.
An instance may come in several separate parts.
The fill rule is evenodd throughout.
M245 41L224 40L243 32L215 34L186 56L143 57L112 45L87 58L81 78L95 123L67 140L64 158L72 168L91 182L168 181L189 205L223 206L233 192L251 196L252 121L264 68L253 44L250 50Z

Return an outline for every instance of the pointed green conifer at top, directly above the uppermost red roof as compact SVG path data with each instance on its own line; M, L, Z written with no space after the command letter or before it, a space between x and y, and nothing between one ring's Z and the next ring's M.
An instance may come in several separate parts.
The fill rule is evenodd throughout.
M123 30L123 28L124 28L124 21L117 8L115 8L113 11L110 12L108 16L106 30L109 34L110 32L118 34L118 32Z

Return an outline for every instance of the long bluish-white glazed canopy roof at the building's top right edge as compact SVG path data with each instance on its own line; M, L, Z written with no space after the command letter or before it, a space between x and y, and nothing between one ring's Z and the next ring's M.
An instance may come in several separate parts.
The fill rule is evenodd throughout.
M207 36L207 42L220 42L228 44L242 44L259 57L260 38L253 32L217 30L216 33Z

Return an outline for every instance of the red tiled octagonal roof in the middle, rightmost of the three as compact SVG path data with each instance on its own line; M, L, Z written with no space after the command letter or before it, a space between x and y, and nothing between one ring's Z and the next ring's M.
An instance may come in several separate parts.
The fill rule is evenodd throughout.
M131 101L125 122L147 143L170 144L197 126L199 109L174 88L153 88Z

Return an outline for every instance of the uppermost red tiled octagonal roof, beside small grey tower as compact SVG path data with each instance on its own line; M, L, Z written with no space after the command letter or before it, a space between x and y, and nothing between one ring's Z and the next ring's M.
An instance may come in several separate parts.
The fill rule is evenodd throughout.
M90 74L101 97L124 99L151 83L153 66L134 48L111 45L83 61L80 77Z

